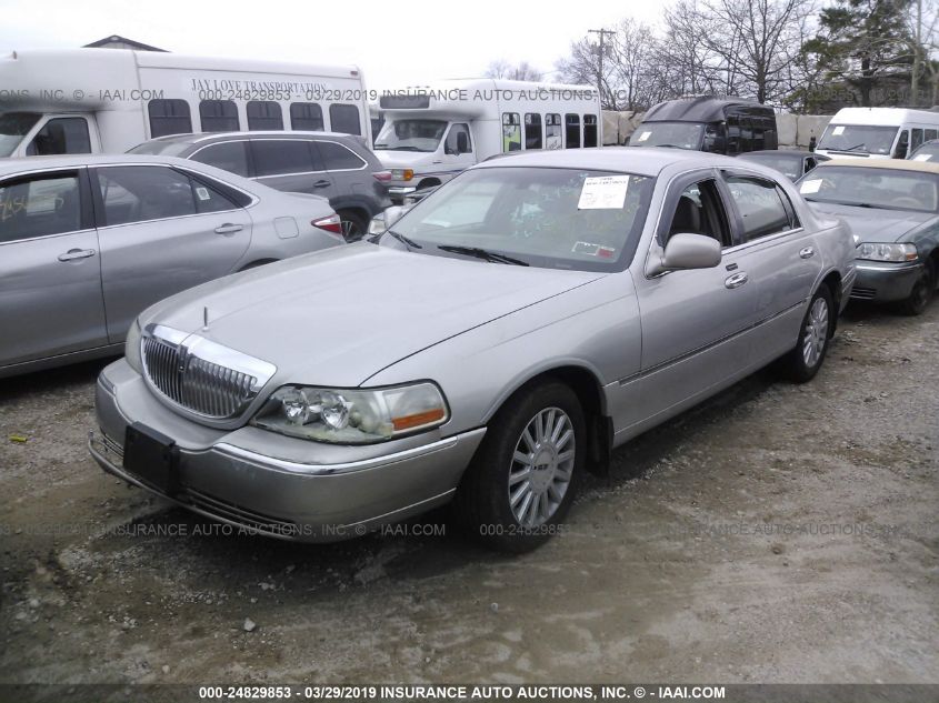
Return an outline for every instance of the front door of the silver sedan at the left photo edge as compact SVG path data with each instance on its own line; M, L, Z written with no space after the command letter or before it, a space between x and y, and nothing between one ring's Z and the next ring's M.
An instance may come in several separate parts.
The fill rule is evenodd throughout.
M0 182L0 366L108 343L84 168Z

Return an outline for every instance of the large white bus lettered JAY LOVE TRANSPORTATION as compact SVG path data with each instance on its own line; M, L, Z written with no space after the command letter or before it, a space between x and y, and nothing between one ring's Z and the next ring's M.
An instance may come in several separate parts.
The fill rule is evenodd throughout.
M0 157L118 153L167 134L282 129L370 143L361 71L118 49L0 58Z

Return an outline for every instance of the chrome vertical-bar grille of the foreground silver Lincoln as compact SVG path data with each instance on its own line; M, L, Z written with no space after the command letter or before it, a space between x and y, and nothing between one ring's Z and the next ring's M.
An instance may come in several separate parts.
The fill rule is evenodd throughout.
M141 351L153 388L177 405L218 420L243 412L276 371L267 362L168 328L148 330Z

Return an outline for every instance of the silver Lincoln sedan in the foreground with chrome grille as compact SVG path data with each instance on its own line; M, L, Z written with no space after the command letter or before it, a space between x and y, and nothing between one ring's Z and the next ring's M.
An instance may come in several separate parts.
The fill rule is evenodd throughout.
M91 452L263 534L334 541L453 501L489 545L532 549L615 446L769 362L811 379L853 259L755 163L497 159L376 242L146 310L99 379Z

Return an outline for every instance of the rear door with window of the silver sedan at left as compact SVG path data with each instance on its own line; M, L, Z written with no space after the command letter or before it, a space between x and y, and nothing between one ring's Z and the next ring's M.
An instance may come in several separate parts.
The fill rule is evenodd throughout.
M101 165L92 187L112 342L148 305L231 273L251 243L248 212L211 179L159 164Z

